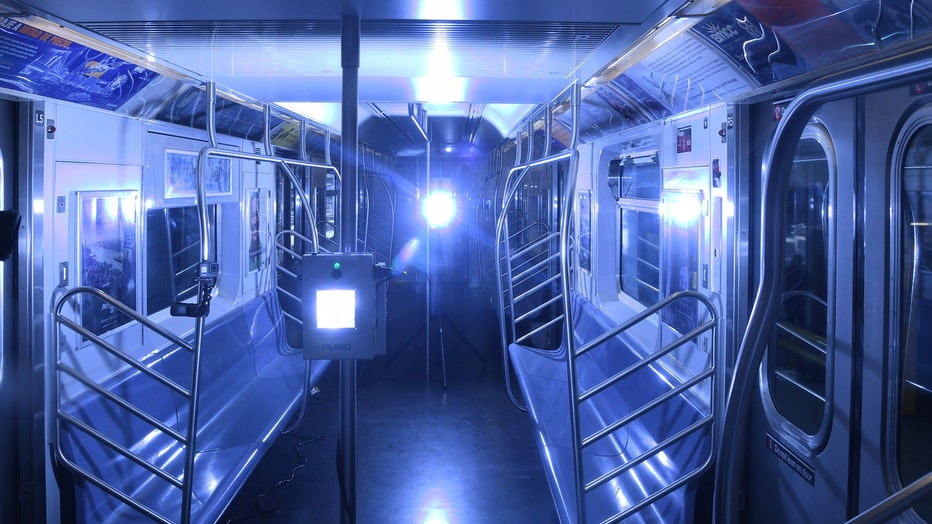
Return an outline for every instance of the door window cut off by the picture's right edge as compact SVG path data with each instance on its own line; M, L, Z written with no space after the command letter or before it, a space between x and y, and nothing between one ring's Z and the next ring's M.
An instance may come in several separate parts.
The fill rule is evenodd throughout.
M897 465L905 486L932 469L932 125L919 129L903 165L900 406ZM915 507L932 521L932 500Z

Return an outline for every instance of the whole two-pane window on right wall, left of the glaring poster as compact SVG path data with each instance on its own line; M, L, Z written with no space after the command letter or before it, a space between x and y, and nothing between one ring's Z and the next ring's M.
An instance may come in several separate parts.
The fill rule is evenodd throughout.
M619 285L650 306L660 299L660 163L655 153L626 156L618 169Z

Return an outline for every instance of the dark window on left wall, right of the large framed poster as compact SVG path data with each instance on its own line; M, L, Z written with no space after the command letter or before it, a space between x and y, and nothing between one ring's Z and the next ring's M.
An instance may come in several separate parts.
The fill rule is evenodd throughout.
M210 228L217 230L217 206L208 207ZM146 213L146 311L161 311L197 292L195 266L201 261L197 206L151 209ZM217 235L212 252L216 253Z

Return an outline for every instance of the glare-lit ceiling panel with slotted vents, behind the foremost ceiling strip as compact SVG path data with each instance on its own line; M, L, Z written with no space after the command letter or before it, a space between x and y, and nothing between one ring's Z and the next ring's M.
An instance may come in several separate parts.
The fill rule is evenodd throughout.
M342 74L337 21L106 22L84 27L209 78ZM567 79L616 27L365 20L359 75Z

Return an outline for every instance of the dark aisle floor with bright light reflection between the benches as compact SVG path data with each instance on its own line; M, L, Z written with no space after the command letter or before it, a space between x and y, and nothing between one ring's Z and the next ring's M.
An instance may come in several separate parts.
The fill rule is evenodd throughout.
M530 422L505 393L488 297L444 302L429 361L424 308L409 302L390 318L387 355L357 367L356 521L558 522ZM279 437L221 522L340 522L339 378L331 366L301 426Z

